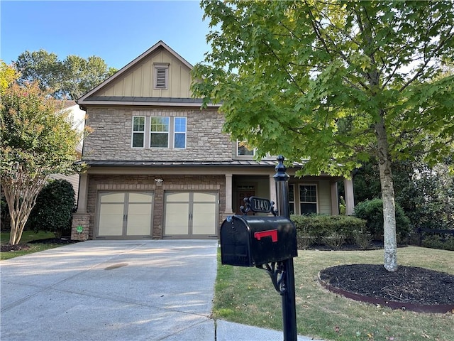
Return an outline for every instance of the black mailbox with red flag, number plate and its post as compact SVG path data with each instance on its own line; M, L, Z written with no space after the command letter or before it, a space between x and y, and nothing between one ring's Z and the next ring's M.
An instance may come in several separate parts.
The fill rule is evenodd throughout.
M282 298L284 341L297 341L297 312L293 257L298 256L297 229L289 219L289 175L284 157L277 158L274 202L261 197L245 197L244 215L227 217L221 225L221 262L233 266L255 266L267 271ZM248 212L272 214L247 215ZM279 216L277 216L279 213Z

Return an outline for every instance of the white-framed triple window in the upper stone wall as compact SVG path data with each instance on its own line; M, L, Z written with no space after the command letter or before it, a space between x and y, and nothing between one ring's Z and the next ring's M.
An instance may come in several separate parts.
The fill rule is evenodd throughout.
M134 116L131 136L133 148L186 148L186 117Z

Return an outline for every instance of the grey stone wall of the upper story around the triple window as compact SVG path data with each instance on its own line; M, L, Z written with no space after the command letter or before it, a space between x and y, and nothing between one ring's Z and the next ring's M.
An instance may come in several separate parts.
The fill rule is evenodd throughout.
M228 161L230 137L222 134L224 118L214 109L133 109L88 107L84 160ZM133 116L187 117L187 148L132 148ZM147 130L148 129L148 130ZM145 134L149 134L149 127Z

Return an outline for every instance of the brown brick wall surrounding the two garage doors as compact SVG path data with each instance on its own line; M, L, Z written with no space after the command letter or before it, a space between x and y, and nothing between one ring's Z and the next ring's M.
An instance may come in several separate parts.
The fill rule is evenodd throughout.
M164 180L157 185L156 178ZM223 175L89 175L87 216L89 216L88 238L93 239L96 220L96 200L99 191L147 190L154 191L153 239L162 239L165 190L198 190L218 192L218 224L223 222L226 207L226 179ZM73 224L74 225L74 224ZM219 227L218 227L219 228ZM73 227L74 230L74 227Z

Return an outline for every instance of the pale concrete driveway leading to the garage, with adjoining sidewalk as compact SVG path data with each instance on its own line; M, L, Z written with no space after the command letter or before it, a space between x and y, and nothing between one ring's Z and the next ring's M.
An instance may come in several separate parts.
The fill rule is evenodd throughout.
M216 241L103 240L0 261L0 339L282 340L211 318L216 252Z

